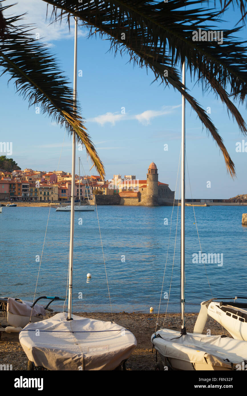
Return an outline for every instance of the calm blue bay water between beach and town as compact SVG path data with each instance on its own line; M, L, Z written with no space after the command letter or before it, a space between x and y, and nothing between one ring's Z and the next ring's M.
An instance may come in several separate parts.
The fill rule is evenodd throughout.
M178 208L174 208L163 293L169 291ZM0 295L33 300L48 208L3 208L0 214ZM223 253L223 265L206 264L214 297L247 295L247 227L244 207L197 207L195 214L205 253ZM172 208L98 206L113 311L157 312L167 257ZM78 219L82 218L82 225ZM168 225L164 225L164 218ZM50 211L36 295L65 297L70 213ZM212 297L199 252L193 208L186 207L186 310L197 312ZM124 261L125 256L125 261ZM121 261L122 259L122 261ZM87 283L86 274L92 279ZM180 208L168 311L179 312ZM82 293L82 299L79 299ZM162 297L161 312L167 299ZM62 309L61 303L53 307ZM108 312L109 297L96 211L75 214L73 310Z

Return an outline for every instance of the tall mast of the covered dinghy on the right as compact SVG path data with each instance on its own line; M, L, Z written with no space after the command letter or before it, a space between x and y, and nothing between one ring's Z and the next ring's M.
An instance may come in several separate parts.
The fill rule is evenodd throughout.
M185 61L182 67L182 83L185 85ZM181 327L185 330L184 315L184 257L185 257L185 97L182 95L182 161L181 161ZM185 330L186 331L186 330Z

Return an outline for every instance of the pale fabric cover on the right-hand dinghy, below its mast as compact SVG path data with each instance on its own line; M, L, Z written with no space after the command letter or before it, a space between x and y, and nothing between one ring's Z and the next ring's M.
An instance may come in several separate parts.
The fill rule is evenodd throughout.
M156 331L160 337L152 335L151 341L162 356L186 362L211 364L231 368L233 364L247 361L247 342L220 335L187 333L171 329ZM176 338L179 337L179 338Z

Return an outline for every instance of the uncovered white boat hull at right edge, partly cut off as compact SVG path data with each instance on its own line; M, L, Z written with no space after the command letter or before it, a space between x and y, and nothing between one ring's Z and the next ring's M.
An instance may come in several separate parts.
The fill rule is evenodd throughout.
M201 303L201 310L195 322L194 333L202 333L208 315L220 323L237 340L247 341L247 304L237 299L247 297L216 298ZM220 300L220 301L215 301ZM222 301L234 300L234 301Z

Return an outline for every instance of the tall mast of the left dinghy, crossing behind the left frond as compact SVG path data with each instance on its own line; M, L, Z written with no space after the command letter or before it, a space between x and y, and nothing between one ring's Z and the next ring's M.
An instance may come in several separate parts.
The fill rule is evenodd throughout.
M75 17L75 49L74 49L74 103L77 99L77 17ZM69 299L68 299L68 317L72 320L72 289L73 289L73 248L74 248L74 223L75 223L75 149L76 149L75 131L73 131L73 148L72 148L72 178L71 178L71 211L70 211L70 240L69 240Z

